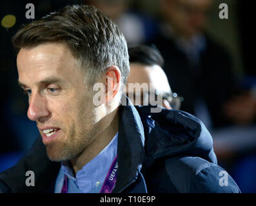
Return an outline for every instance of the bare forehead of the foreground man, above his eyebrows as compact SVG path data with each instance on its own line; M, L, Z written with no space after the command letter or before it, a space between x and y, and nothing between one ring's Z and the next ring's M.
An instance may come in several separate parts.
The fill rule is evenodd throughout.
M81 71L68 46L47 43L33 48L21 48L17 55L19 80L37 80L49 75L66 77Z

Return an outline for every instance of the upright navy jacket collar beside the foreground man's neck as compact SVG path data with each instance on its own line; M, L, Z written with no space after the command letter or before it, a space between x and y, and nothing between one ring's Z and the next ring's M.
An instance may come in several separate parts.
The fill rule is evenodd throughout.
M144 129L137 109L126 98L126 106L120 106L119 135L117 142L117 182L113 192L122 192L132 184L144 160Z

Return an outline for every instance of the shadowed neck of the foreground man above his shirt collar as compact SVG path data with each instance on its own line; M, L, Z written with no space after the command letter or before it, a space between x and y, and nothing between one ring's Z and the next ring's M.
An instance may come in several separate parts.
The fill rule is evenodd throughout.
M100 128L104 128L101 132L97 133ZM97 154L99 154L104 147L106 147L113 137L116 135L119 128L119 112L118 108L108 114L108 118L104 118L103 123L97 126L94 140L88 144L79 156L70 160L75 174L81 170L84 165L90 162Z

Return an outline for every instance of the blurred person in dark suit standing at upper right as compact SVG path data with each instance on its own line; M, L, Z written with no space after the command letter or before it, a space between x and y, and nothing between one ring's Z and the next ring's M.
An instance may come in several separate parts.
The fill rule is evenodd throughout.
M186 100L181 109L210 129L255 122L255 99L239 87L231 56L205 32L212 0L161 0L161 26L153 41L171 87ZM238 109L239 108L239 109Z

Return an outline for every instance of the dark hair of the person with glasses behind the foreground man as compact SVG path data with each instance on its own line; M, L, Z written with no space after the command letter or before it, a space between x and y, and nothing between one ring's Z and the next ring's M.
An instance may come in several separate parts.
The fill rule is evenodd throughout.
M131 46L128 48L128 53L130 63L137 62L148 66L157 64L160 67L164 65L164 59L156 48L145 45Z

